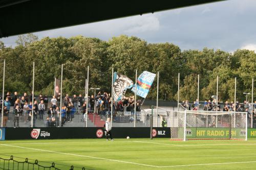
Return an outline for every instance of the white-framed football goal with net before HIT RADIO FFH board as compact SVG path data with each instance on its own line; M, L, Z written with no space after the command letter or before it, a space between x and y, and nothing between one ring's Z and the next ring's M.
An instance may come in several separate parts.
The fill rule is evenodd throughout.
M171 140L247 140L247 112L169 111Z

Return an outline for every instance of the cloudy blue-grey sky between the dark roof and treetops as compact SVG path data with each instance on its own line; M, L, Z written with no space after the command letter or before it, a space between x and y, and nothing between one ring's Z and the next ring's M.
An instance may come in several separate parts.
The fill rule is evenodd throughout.
M228 0L34 34L39 38L82 35L106 41L128 35L148 43L174 43L182 51L207 47L232 53L239 48L256 50L255 7L255 0ZM17 36L11 36L0 41L14 47L16 39Z

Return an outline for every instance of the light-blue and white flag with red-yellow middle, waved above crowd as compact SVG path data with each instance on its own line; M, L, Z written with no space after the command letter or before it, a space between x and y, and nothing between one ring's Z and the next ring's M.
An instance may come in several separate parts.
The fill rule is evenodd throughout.
M150 91L151 85L156 77L156 74L152 72L143 71L137 80L137 95L142 98L146 98L148 91ZM132 91L135 93L135 85Z

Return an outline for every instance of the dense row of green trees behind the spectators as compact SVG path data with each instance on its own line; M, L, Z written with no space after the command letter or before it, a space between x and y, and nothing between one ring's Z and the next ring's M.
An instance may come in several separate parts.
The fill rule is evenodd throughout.
M159 99L177 100L178 72L180 99L197 99L200 75L200 101L216 95L219 76L219 99L234 100L234 78L237 77L237 100L243 92L251 92L251 79L256 76L256 54L237 50L233 54L204 48L181 52L172 43L150 43L137 37L121 35L109 41L76 36L71 38L45 37L38 40L33 34L19 36L17 46L5 47L0 41L0 60L6 59L6 91L19 93L32 90L32 68L35 62L35 94L52 95L54 78L60 78L63 64L63 92L84 93L87 69L89 87L111 91L112 67L135 81L147 70L159 71ZM3 63L0 63L3 68ZM3 70L0 71L2 81ZM1 82L0 82L1 83ZM147 99L156 99L156 79ZM131 91L127 91L127 94ZM256 92L255 92L256 93Z

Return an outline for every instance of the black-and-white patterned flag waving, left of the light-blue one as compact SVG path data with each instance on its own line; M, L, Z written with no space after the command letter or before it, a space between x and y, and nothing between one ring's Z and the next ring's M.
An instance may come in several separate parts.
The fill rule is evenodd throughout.
M113 99L119 101L125 94L126 89L133 87L133 81L124 75L114 72Z

